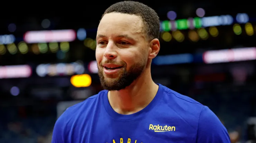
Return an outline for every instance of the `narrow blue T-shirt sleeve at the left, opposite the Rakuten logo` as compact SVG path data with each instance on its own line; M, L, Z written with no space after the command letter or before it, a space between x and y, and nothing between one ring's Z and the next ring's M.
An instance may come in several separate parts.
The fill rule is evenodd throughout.
M63 115L61 115L53 128L52 143L64 143L64 127L65 121Z

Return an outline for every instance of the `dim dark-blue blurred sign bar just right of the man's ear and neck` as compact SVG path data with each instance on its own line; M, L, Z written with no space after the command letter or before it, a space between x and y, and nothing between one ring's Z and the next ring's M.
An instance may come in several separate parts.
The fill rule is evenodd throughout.
M166 55L157 56L153 59L153 64L155 65L172 65L172 64L184 64L192 63L194 57L192 54L176 54L176 55Z

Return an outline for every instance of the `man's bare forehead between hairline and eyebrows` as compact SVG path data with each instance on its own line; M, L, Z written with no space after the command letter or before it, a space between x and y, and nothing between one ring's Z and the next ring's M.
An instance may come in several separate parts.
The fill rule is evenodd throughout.
M98 26L98 34L115 36L127 34L136 36L143 34L143 22L137 15L108 13L103 16Z

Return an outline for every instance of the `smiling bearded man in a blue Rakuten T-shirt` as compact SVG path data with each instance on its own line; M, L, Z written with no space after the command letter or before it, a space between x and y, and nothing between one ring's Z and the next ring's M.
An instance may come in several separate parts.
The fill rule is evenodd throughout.
M156 12L139 2L105 11L95 55L106 90L68 108L52 143L230 143L208 107L153 82L159 25Z

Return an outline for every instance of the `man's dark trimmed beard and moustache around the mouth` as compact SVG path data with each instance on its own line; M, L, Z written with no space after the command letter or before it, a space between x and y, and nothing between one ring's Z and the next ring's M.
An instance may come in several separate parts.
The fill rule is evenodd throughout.
M106 78L104 77L103 73L103 64L116 64L116 65L122 65L120 71L115 75L110 75L110 77ZM127 86L131 85L135 79L137 79L142 72L144 71L146 67L147 61L145 59L140 60L139 62L132 65L129 70L127 70L127 64L125 62L111 62L106 61L104 63L101 63L100 67L98 66L98 75L100 77L100 83L103 89L106 90L121 90L125 89ZM111 78L113 76L116 76L115 78Z

